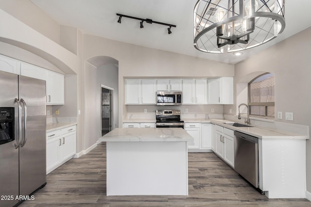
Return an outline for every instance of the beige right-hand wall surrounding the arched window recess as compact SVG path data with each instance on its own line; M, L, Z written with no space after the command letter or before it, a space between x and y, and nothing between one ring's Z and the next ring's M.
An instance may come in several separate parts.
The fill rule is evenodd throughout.
M236 84L248 82L260 73L274 73L275 109L283 112L287 122L311 127L311 28L268 48L257 55L235 65L235 98ZM240 89L238 89L240 90ZM247 99L245 100L247 103ZM236 103L236 101L234 102ZM232 108L236 114L236 106L224 106L224 113L229 114ZM294 121L285 120L285 112L294 113ZM307 191L311 191L311 141L307 141Z

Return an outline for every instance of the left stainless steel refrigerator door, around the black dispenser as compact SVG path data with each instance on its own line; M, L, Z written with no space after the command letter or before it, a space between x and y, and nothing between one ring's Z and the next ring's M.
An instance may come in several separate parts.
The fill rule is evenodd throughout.
M15 107L15 126L18 126L18 76L0 71L0 107ZM4 127L1 127L3 129ZM0 144L0 195L13 196L0 199L1 207L12 207L18 203L18 128L14 130L15 140ZM1 197L2 198L2 197Z

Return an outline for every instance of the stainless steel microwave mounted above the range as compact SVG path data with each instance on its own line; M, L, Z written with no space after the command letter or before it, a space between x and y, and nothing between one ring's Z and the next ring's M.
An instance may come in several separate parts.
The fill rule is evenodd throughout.
M176 106L181 105L181 91L157 91L156 105L158 106Z

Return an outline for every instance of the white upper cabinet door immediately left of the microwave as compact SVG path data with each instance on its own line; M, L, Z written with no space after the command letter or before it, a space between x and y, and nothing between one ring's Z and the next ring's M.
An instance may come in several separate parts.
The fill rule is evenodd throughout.
M141 80L141 103L155 104L155 80Z

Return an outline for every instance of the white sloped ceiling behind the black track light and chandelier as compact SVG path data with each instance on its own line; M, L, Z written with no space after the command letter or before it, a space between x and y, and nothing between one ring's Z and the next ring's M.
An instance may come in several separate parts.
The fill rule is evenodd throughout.
M236 64L259 51L311 26L311 0L285 1L285 30L274 40L243 51L211 54L193 47L193 9L197 0L31 0L60 25L79 28L86 34L120 42L166 50L209 60ZM300 4L298 4L299 2ZM168 34L167 26L147 24L123 17L119 24L116 14L149 18L176 25Z

